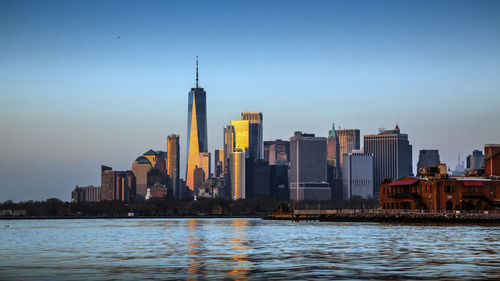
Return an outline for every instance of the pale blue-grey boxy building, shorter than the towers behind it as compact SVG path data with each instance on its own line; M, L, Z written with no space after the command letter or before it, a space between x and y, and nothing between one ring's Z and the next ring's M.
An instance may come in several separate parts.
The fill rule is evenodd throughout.
M343 200L353 196L373 197L373 154L347 153L343 158Z

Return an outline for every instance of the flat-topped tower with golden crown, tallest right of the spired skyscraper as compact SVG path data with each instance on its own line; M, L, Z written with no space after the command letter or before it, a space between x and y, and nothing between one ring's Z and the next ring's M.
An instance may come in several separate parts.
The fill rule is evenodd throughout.
M247 158L264 158L264 131L262 112L242 112L241 120L248 120L248 151Z

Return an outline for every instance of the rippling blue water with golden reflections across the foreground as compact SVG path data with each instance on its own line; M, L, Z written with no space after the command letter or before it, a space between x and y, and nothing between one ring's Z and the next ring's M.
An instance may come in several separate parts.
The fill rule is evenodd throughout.
M499 280L500 227L12 220L0 280Z

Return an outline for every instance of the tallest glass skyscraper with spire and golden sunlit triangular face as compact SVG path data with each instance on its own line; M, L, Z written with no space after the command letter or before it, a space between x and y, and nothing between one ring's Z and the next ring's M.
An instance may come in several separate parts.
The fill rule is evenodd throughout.
M196 88L188 98L187 168L186 186L193 190L196 166L200 167L200 152L208 152L207 142L207 93L198 87L198 57L196 58Z

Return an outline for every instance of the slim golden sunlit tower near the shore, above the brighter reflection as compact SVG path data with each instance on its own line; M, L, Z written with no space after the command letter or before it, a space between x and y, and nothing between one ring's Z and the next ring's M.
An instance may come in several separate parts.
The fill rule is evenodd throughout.
M245 152L236 148L231 152L230 171L231 171L231 199L245 199Z

